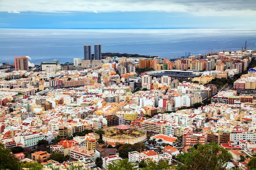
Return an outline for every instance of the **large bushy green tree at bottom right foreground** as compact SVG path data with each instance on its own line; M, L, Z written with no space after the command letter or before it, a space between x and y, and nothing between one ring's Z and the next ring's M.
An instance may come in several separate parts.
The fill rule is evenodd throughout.
M177 156L180 164L177 170L226 170L226 162L231 154L218 144L199 144L198 149L191 148L189 152Z

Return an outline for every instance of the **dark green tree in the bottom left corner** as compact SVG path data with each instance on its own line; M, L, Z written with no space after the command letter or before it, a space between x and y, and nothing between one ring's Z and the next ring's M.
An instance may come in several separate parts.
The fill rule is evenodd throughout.
M4 148L4 145L0 142L0 169L18 169L18 158L11 155L8 149Z

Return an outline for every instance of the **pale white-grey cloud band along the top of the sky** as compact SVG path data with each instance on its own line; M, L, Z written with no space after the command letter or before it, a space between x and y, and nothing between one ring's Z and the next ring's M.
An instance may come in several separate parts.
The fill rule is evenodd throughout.
M1 0L0 2L0 11L11 12L13 7L22 12L47 13L162 11L201 16L256 15L255 0Z

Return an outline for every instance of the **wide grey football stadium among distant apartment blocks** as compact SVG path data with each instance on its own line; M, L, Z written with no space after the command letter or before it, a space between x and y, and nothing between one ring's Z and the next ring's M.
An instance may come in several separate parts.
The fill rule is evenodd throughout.
M164 75L171 76L172 79L199 77L202 75L199 71L182 71L182 70L159 70L148 71L144 74L151 75L153 77L162 77Z

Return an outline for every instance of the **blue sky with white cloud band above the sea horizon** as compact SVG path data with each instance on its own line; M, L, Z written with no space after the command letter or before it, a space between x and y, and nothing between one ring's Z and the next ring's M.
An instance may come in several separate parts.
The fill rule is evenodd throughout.
M256 27L256 0L0 0L0 28Z

